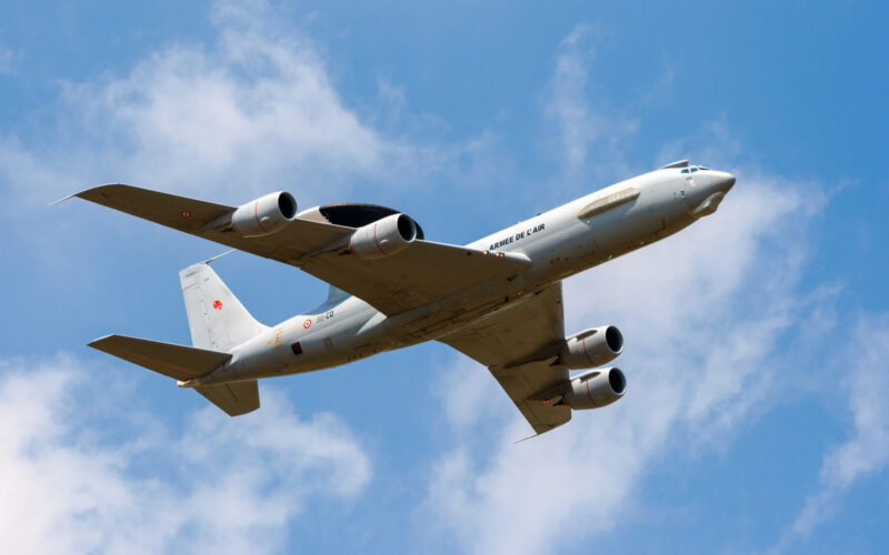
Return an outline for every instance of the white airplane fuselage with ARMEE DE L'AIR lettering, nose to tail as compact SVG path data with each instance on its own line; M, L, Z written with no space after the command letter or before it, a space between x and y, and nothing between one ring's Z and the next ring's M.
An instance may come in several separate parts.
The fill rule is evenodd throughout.
M181 385L321 370L441 337L685 229L712 213L733 184L729 173L685 167L621 181L468 244L475 253L468 255L529 262L506 289L500 282L482 284L393 316L343 296L270 327L234 347L223 367Z

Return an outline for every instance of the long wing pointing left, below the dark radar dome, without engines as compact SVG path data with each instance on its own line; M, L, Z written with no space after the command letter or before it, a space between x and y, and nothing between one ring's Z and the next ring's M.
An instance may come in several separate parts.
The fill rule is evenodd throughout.
M341 255L354 228L297 218L280 231L243 238L210 226L234 206L130 185L102 185L74 196L168 228L209 239L302 269L351 293L383 314L398 314L482 283L512 279L529 261L486 255L465 246L416 240L401 252L376 260Z

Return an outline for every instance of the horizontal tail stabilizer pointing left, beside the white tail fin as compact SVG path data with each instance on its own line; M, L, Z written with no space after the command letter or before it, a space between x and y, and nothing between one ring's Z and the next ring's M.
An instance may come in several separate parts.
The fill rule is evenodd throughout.
M200 377L231 359L229 353L126 335L107 335L89 346L183 382Z

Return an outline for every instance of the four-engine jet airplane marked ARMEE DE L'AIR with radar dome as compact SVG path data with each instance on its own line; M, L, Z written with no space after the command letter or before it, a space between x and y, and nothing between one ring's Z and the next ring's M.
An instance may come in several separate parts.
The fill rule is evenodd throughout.
M621 332L600 325L567 335L561 281L712 214L733 184L730 173L681 160L463 246L427 241L413 219L386 206L298 212L288 192L228 206L109 184L57 202L84 199L329 284L321 305L267 326L210 259L179 273L191 346L126 335L89 343L177 380L231 416L259 408L258 379L436 340L487 366L539 435L627 391L623 372L603 367L623 352Z

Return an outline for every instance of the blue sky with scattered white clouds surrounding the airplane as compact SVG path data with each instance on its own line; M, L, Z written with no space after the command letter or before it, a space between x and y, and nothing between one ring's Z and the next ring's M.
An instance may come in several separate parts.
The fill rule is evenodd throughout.
M889 39L881 2L0 4L3 553L881 553ZM224 251L103 183L393 206L468 243L678 159L719 211L567 280L628 393L532 441L429 343L260 383L230 418L86 344L189 343ZM11 229L10 229L11 228ZM234 253L260 321L326 284Z

